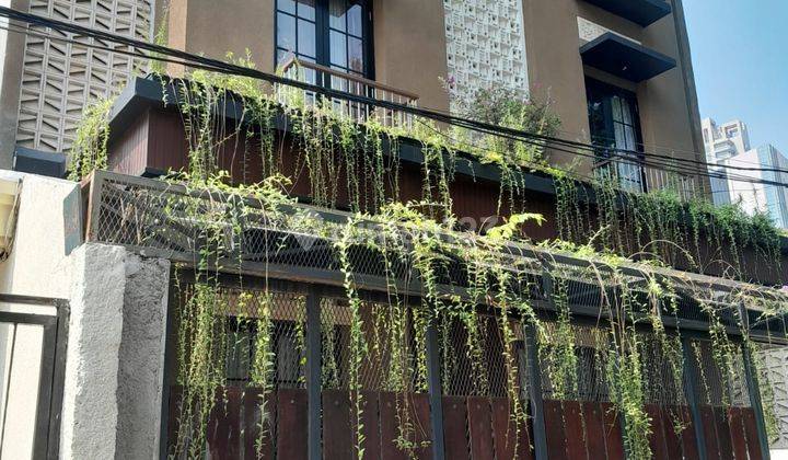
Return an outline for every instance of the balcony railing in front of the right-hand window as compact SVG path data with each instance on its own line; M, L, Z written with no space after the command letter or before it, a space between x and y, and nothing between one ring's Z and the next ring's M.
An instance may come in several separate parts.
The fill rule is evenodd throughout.
M670 160L667 161L670 163ZM672 192L683 202L702 198L704 191L697 176L679 172L677 168L679 163L675 168L671 168L670 164L654 168L631 154L613 153L594 162L593 174L595 179L609 181L625 192Z

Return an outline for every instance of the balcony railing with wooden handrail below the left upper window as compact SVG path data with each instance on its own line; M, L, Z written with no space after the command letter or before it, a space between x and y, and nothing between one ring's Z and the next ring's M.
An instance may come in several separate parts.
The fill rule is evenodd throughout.
M280 67L285 78L323 88L346 92L348 94L373 99L375 101L393 102L396 104L416 106L418 95L366 79L352 73L345 73L325 66L302 61L294 57L289 58ZM277 88L277 95L282 103L291 103L293 99L303 100L306 105L326 104L337 114L348 117L357 123L374 120L386 127L410 128L413 115L402 111L376 107L372 104L352 102L340 99L326 101L317 94L306 90L289 87Z

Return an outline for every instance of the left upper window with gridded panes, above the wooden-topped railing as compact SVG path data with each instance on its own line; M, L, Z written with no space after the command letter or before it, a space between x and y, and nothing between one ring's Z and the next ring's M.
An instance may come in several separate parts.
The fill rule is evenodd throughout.
M369 0L277 0L277 65L289 56L373 78Z

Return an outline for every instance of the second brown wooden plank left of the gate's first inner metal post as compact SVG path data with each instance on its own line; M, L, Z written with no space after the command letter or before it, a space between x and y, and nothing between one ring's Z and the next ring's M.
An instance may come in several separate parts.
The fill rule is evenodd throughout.
M247 388L243 399L243 446L245 459L274 458L276 395L263 400L263 390Z

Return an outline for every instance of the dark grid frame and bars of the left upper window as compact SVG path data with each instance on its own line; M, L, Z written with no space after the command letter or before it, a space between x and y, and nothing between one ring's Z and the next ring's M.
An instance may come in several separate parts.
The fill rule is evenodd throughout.
M374 80L374 43L373 43L373 26L372 26L372 1L371 0L345 0L347 3L357 3L361 5L361 36L350 34L349 32L349 21L346 15L346 24L345 24L345 31L341 32L337 28L332 27L331 25L331 18L329 18L329 5L331 0L314 0L314 20L309 20L304 16L300 15L300 9L303 7L300 7L300 2L298 0L292 0L292 2L296 4L296 11L289 12L287 10L283 10L281 8L282 0L276 0L274 5L274 65L275 67L278 67L280 65L280 53L290 53L293 54L299 59L304 59L311 62L315 62L321 66L331 67L334 69L337 69L341 72L347 72L350 74L356 74L358 77L363 77L368 80ZM294 38L296 43L293 44L294 49L287 49L283 46L280 46L279 44L279 37L278 37L278 28L279 28L279 18L280 15L287 15L293 19L296 27L294 27ZM299 21L303 22L310 22L314 24L315 33L314 33L314 39L315 39L315 55L309 56L299 53L298 49L298 25ZM341 33L345 35L345 55L346 55L346 62L345 66L337 66L332 65L331 62L331 33L334 31L335 33ZM351 70L350 62L349 62L349 49L350 49L350 39L360 39L361 41L361 53L363 58L363 69L361 72Z

